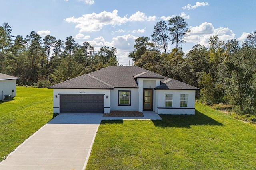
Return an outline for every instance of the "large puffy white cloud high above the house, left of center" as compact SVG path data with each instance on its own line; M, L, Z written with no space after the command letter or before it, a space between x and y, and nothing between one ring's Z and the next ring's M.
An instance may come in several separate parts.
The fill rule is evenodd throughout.
M74 16L66 18L65 21L68 23L76 23L76 28L80 29L81 32L93 32L100 31L104 25L122 25L128 22L126 16L123 18L118 16L117 10L113 12L100 12L98 14L84 14L82 17L75 18Z

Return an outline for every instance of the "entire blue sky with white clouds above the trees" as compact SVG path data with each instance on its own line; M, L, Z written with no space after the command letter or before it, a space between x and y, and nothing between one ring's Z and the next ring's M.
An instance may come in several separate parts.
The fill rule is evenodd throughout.
M127 65L134 40L151 37L154 25L174 16L185 18L190 35L183 51L194 45L208 46L210 36L237 39L240 44L256 30L255 0L0 0L0 24L7 22L12 35L26 37L36 31L76 43L116 47L120 64ZM15 37L14 37L15 38ZM169 44L168 50L174 48Z

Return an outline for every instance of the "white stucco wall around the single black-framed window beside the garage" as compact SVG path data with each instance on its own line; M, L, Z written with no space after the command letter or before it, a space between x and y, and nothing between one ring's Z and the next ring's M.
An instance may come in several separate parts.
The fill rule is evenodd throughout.
M131 91L131 106L118 106L118 90ZM110 90L110 110L138 111L138 88L114 88Z

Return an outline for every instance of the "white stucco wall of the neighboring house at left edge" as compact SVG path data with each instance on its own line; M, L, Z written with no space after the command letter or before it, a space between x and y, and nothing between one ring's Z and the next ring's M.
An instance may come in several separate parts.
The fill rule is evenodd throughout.
M14 90L14 92L12 92ZM4 100L4 95L16 96L16 79L0 80L0 100Z

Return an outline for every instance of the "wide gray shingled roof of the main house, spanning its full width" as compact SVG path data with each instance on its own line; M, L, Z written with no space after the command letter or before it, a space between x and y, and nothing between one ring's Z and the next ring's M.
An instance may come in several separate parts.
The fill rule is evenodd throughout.
M155 89L165 90L171 86L167 77L161 76L138 66L108 66L89 74L61 82L49 88L80 88L80 89L113 89L113 88L138 88L136 78L160 78L164 84ZM168 81L167 81L168 80ZM173 79L170 79L173 80ZM175 80L177 81L177 80ZM179 82L179 81L177 81ZM193 86L175 82L176 89L192 90ZM179 87L179 85L181 87ZM187 85L187 86L185 86ZM198 90L198 88L196 88Z

